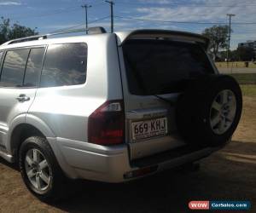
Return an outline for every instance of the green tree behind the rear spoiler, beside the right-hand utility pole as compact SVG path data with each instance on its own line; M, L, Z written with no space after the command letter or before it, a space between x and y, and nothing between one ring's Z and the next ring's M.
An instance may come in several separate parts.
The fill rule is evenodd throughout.
M206 28L202 34L210 39L210 52L215 60L219 49L228 47L229 26L212 26Z

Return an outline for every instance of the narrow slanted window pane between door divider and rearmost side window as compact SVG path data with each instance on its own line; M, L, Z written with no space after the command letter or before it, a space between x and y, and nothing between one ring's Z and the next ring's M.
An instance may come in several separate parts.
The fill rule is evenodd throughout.
M44 59L44 48L35 48L30 50L26 64L24 77L24 87L38 86L41 67Z

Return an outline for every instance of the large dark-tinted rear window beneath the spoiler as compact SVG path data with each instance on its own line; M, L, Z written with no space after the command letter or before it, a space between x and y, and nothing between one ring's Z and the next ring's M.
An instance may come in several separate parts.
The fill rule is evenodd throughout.
M182 92L190 79L213 72L204 49L195 43L131 40L123 52L133 95Z

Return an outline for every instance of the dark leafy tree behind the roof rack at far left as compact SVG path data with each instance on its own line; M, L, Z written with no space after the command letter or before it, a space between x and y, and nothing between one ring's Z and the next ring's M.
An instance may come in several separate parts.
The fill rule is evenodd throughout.
M9 40L20 38L20 37L29 37L38 35L36 29L31 29L30 27L20 26L15 23L13 26L10 26L10 20L4 19L1 17L2 23L0 23L0 43L5 43Z

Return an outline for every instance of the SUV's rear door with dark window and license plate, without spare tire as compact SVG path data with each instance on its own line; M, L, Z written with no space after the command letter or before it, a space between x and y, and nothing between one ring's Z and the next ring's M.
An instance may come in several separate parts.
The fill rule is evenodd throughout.
M191 78L214 72L203 39L142 34L119 43L131 160L184 145L176 127L177 97Z

